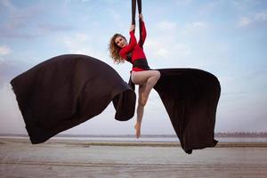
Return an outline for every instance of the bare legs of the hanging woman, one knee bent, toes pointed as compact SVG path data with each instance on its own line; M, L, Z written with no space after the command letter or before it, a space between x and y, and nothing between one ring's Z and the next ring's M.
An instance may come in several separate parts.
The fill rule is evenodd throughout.
M154 85L157 84L160 73L158 70L146 70L140 72L132 72L132 81L134 84L139 85L139 98L137 105L137 120L135 128L136 138L139 138L141 135L141 124L143 110L146 102L148 101L150 91Z

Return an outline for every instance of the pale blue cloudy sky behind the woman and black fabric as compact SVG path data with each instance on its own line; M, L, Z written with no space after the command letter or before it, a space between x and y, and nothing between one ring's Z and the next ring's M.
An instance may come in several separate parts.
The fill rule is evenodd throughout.
M203 69L218 77L215 132L267 131L266 0L143 0L142 13L152 69ZM115 33L128 38L130 23L126 0L0 0L0 134L27 134L11 79L54 56L92 56L128 81L131 65L115 64L108 44ZM114 115L110 104L63 134L134 134L135 116L119 122ZM142 134L174 134L155 91Z

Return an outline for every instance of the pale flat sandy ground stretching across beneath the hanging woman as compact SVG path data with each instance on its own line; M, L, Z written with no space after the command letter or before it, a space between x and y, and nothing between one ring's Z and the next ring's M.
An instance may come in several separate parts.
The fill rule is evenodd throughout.
M130 146L129 146L130 145ZM178 145L0 139L0 177L267 177L266 143L218 145L191 155Z

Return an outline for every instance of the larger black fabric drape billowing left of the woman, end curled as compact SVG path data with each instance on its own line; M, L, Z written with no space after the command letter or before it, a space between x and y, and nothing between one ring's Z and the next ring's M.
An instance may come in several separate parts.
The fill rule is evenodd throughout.
M117 72L90 56L66 54L11 81L32 143L97 116L113 101L117 120L134 117L135 93Z

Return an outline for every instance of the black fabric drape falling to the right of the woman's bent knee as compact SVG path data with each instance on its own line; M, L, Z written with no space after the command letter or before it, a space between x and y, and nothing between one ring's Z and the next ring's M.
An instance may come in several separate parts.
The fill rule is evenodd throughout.
M221 86L214 75L200 69L158 69L154 89L171 119L182 149L214 147L214 124Z

